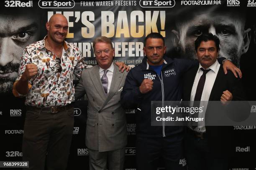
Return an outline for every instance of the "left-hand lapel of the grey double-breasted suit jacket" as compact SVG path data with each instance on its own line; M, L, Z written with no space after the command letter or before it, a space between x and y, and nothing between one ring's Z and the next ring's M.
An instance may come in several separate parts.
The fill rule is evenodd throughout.
M100 80L100 72L99 72L99 66L98 65L96 65L95 67L92 68L92 71L90 72L90 78L92 80L92 83L93 83L95 89L97 90L97 92L101 96L101 98L103 100L105 100L107 98L107 96L105 95L105 92L104 92L104 89L103 89L103 86L102 86L102 82Z

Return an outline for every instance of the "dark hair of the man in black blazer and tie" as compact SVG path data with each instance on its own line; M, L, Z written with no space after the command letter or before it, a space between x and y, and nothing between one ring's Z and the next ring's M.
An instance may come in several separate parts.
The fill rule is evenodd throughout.
M195 50L197 51L197 48L199 47L199 45L201 44L202 41L214 41L217 51L220 50L220 39L216 36L213 35L212 33L208 32L208 33L204 33L202 35L200 35L199 37L197 37L197 39L195 40Z

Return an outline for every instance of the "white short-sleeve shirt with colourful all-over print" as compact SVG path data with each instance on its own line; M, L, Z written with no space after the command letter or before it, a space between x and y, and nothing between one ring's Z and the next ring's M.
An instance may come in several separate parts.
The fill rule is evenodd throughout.
M80 77L86 64L79 48L64 41L62 70L58 72L56 56L46 49L45 38L24 49L16 81L20 80L27 64L35 64L38 72L29 80L31 88L26 95L25 104L36 107L64 106L74 101L73 74Z

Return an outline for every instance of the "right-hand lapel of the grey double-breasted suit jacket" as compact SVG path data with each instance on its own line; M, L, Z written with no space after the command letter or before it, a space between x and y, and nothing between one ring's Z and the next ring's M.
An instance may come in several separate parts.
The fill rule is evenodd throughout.
M108 103L108 101L113 97L113 95L118 91L118 87L120 85L120 82L122 80L124 74L121 74L121 72L118 70L118 66L114 64L114 72L112 76L112 81L110 85L110 90L108 92L107 98L105 102L103 103L101 109ZM103 87L102 87L103 89Z

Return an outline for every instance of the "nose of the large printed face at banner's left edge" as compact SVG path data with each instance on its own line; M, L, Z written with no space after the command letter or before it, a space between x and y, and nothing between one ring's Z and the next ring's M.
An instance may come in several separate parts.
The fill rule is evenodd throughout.
M10 37L0 38L0 66L13 61L13 40Z

